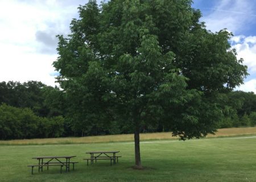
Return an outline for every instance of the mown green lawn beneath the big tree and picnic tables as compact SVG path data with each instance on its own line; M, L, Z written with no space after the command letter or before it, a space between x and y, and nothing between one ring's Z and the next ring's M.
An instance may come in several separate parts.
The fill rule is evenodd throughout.
M0 181L256 181L256 138L200 139L186 142L141 143L144 170L134 170L133 143L51 146L0 146ZM86 151L119 150L122 158L110 166L99 161L86 166ZM31 175L33 156L76 155L75 171L59 167Z

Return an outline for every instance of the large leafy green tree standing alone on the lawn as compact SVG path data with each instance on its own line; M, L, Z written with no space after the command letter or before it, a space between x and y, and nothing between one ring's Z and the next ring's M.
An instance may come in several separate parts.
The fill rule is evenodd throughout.
M59 35L53 63L83 125L118 121L134 131L135 167L142 168L139 133L162 126L181 139L214 133L223 116L220 94L247 75L222 30L199 22L190 0L89 1Z

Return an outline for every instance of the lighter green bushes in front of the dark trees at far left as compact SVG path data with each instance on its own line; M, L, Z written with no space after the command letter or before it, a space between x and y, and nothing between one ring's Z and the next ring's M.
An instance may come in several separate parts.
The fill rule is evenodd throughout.
M60 137L63 117L38 117L31 109L0 105L0 139Z

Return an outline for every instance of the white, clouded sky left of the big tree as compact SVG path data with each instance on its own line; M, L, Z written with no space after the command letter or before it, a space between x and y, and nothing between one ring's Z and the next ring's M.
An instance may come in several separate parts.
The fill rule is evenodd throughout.
M52 62L57 58L55 35L69 34L69 23L84 3L0 0L0 81L56 85L52 75Z

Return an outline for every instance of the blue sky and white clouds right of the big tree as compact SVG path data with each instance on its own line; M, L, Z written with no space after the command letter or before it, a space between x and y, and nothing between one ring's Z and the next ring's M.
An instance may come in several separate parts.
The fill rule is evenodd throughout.
M200 9L207 29L213 32L227 28L233 32L230 40L237 57L245 60L250 76L237 88L256 93L256 1L255 0L195 0L192 7Z

